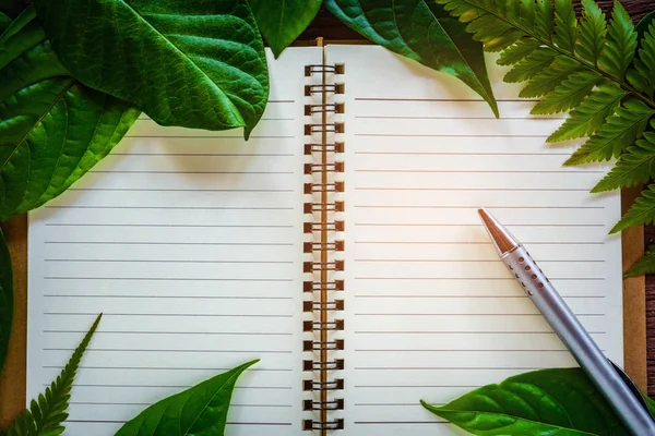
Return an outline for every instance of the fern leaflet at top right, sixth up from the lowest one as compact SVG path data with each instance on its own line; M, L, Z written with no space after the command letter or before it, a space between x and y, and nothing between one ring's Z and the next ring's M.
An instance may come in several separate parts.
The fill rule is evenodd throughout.
M574 108L590 95L600 78L600 74L591 70L582 70L571 74L555 90L536 104L531 113L549 114Z

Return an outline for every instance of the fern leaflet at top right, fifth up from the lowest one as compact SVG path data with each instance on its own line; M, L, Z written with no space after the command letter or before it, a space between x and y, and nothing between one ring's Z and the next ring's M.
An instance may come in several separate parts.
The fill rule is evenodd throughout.
M571 111L569 119L547 141L556 143L593 134L614 113L626 95L618 86L598 86Z

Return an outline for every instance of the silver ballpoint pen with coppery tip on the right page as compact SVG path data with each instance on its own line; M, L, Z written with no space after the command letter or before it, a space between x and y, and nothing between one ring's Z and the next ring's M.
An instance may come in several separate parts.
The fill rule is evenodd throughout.
M525 247L486 209L478 209L498 254L580 367L635 436L655 435L655 420L632 380L600 351Z

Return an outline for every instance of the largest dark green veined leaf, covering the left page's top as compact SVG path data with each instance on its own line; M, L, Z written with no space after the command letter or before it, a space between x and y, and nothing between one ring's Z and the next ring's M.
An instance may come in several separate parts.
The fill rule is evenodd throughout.
M269 97L247 0L37 0L63 65L163 125L249 136ZM93 23L93 37L90 37Z

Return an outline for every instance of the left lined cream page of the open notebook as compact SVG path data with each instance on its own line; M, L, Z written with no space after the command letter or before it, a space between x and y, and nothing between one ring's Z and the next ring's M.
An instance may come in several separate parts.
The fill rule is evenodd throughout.
M227 432L300 432L302 84L321 57L269 58L270 102L249 142L143 116L92 173L29 215L28 398L104 313L67 435L114 435L148 404L252 359Z

